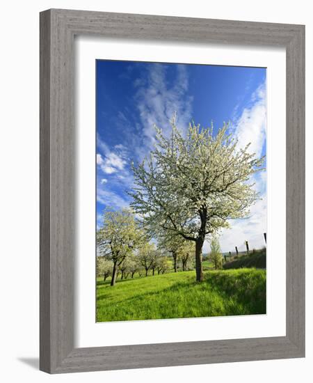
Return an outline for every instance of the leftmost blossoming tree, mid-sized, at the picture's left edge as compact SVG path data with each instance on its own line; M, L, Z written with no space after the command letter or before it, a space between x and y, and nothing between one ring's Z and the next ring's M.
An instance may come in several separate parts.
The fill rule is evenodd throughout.
M113 262L111 286L115 285L118 267L141 246L144 238L131 210L104 212L102 228L97 232L97 246L99 253Z

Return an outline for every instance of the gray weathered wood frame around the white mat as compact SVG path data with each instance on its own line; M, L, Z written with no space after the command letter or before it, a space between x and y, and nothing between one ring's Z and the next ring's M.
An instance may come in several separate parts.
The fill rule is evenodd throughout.
M74 348L74 36L269 45L287 51L287 334ZM81 10L40 13L40 370L305 356L305 26Z

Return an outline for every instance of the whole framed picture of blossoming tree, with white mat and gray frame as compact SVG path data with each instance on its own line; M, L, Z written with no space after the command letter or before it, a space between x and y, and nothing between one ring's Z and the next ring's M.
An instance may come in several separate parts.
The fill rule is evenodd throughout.
M305 356L305 27L40 13L40 369Z

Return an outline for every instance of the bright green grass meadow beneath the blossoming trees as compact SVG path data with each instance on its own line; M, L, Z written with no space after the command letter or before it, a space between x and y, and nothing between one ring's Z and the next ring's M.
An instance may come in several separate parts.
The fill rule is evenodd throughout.
M195 271L118 281L97 281L97 322L266 313L266 272Z

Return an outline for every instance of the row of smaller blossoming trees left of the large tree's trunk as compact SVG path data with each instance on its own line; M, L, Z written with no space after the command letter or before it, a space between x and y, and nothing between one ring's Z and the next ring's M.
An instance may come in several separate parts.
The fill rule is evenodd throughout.
M131 210L104 212L104 225L97 232L97 274L104 280L111 275L114 286L120 273L121 279L152 272L164 274L170 269L168 256L171 254L174 271L180 265L183 271L193 268L194 249L181 237L162 235L158 247L149 242L146 230Z

